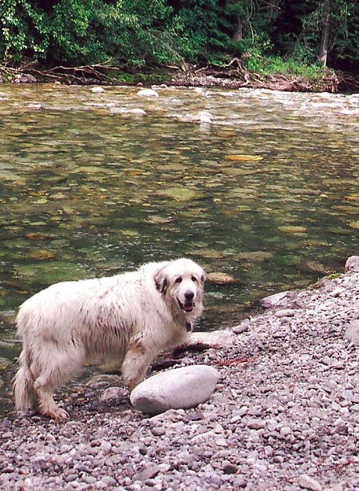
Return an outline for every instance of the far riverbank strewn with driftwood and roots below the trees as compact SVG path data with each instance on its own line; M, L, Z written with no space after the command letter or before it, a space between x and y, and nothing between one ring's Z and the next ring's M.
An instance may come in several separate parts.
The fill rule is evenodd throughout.
M37 64L10 68L0 64L0 84L60 82L80 85L145 85L166 84L180 87L221 87L237 89L267 88L290 92L329 92L356 91L359 77L352 73L323 70L314 79L293 73L271 73L260 75L250 72L245 65L234 58L225 66L195 67L185 64L182 67L157 67L145 73L129 73L116 67L89 65L87 67L53 67L45 69Z

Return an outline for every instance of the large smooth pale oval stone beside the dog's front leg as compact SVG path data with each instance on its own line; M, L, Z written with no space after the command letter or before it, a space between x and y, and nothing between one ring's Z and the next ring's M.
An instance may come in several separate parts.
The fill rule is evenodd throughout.
M136 409L160 414L204 403L214 391L219 372L207 365L193 365L162 372L143 381L131 393Z

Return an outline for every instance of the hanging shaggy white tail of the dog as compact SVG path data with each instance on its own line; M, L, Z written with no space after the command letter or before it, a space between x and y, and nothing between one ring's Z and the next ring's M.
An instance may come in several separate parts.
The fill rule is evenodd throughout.
M25 352L21 352L18 359L20 368L14 376L14 394L16 409L29 409L36 407L36 392L34 390L34 375L27 363L28 357Z

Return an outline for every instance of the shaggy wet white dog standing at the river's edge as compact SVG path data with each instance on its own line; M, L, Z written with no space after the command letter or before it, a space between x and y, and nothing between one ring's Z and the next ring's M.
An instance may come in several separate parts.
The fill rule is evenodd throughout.
M23 351L16 407L66 418L53 392L87 357L121 362L132 390L161 350L186 341L203 310L205 276L190 259L177 259L111 278L57 283L26 300L17 317Z

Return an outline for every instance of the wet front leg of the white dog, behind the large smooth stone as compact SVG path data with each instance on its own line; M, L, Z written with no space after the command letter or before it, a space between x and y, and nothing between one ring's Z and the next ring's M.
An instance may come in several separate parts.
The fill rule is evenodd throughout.
M122 374L130 392L145 379L147 368L157 355L157 350L145 346L142 337L134 337L129 342L125 359L122 364Z

